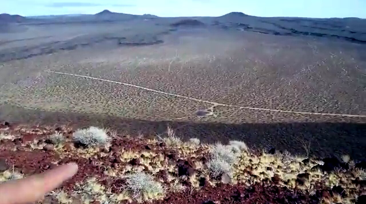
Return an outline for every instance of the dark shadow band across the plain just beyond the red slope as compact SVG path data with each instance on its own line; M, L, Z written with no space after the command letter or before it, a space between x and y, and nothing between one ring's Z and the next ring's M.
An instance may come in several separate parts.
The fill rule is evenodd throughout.
M310 155L366 158L366 124L301 122L271 124L224 124L178 121L146 121L102 114L46 112L18 106L0 106L0 120L26 124L63 125L75 128L89 125L116 129L119 133L153 137L166 131L169 124L183 139L197 137L206 143L229 140L245 141L251 148L287 150L291 154L306 155L304 146L310 143Z

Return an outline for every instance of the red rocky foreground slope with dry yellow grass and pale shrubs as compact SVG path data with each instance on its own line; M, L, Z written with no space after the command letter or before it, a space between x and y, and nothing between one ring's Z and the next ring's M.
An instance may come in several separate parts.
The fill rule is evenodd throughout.
M76 162L40 203L363 203L364 162L253 151L243 141L147 139L89 127L0 127L0 182Z

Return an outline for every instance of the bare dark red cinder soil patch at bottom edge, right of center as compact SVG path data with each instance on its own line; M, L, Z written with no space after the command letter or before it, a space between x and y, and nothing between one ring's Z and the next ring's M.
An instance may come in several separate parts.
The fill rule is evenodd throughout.
M319 203L321 193L310 196L297 190L279 187L273 183L245 185L220 184L202 188L192 194L168 195L158 203Z

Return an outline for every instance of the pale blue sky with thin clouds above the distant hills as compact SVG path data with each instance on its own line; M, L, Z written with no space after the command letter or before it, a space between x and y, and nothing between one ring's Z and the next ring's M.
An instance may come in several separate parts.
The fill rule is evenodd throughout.
M255 16L366 18L366 0L0 0L0 13L95 14L104 9L158 16L220 16L232 11Z

